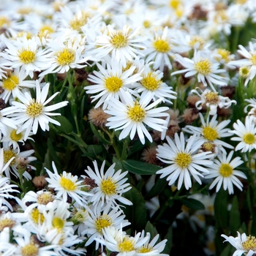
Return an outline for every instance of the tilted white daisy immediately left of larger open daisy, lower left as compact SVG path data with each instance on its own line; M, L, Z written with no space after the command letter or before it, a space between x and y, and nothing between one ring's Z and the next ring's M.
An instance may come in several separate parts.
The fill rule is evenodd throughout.
M54 162L52 162L52 165L54 173L45 167L49 176L49 178L45 178L49 183L48 187L52 187L57 192L56 197L63 198L64 202L67 202L67 195L69 195L80 206L83 206L87 202L86 197L91 196L90 193L83 191L83 188L86 187L83 184L83 180L78 181L78 176L72 176L72 173L67 173L66 171L59 175Z

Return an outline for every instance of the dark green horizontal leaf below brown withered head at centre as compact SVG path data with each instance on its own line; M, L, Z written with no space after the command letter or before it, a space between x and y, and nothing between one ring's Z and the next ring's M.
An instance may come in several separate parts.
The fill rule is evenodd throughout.
M160 170L160 167L157 165L130 159L123 161L123 165L129 172L140 175L152 175L156 174L157 170Z

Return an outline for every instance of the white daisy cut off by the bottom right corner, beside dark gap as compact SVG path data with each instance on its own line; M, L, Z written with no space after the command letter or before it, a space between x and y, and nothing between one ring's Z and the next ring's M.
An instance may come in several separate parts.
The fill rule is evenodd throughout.
M246 236L246 233L240 234L237 237L222 235L225 238L225 242L229 242L236 248L236 252L233 255L241 256L253 256L256 253L256 238L255 236Z

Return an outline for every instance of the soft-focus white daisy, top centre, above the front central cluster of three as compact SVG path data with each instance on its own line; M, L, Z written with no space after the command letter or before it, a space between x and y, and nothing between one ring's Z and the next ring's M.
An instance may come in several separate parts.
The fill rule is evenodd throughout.
M172 69L170 58L173 58L173 45L170 43L169 29L165 26L163 31L155 32L146 42L146 50L143 53L147 56L146 61L154 61L154 69L164 70L165 65Z

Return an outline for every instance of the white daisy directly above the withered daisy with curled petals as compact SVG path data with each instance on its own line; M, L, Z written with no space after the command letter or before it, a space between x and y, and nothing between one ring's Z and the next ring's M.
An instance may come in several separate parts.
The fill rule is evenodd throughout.
M217 75L219 73L227 73L225 69L219 69L219 63L214 59L208 59L201 56L201 52L195 50L194 58L188 59L176 54L178 61L185 69L173 72L171 75L185 73L185 78L196 75L197 81L202 82L204 86L211 86L213 91L216 91L214 84L217 86L226 86L227 78Z

